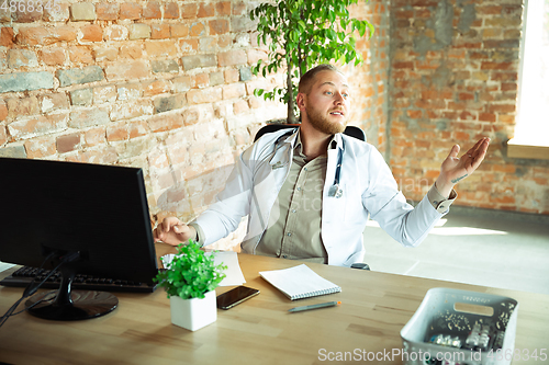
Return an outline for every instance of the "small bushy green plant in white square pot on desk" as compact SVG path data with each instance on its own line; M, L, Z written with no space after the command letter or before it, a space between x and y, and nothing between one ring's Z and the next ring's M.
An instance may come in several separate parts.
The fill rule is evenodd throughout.
M191 331L217 319L215 288L226 276L223 264L215 265L214 256L206 255L192 240L181 243L165 271L155 282L164 287L170 299L171 322Z

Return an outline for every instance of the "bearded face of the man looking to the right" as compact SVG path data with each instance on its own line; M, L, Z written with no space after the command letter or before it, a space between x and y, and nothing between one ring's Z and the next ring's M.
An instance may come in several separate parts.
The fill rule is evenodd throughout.
M316 73L311 91L298 103L303 121L325 134L343 133L348 123L350 95L347 79L339 72Z

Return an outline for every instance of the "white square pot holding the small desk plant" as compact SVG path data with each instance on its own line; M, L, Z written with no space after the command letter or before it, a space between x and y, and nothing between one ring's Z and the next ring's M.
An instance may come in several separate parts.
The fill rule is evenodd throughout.
M181 299L170 297L171 323L197 331L217 320L215 290L208 292L205 297Z

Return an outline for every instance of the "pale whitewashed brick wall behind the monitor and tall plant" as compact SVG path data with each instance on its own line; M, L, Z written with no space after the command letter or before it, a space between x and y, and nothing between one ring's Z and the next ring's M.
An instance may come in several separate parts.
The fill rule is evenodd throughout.
M257 1L56 1L43 11L21 3L0 9L0 157L143 168L150 212L190 220L259 126L285 117L284 105L253 95L284 80L250 72L266 55L248 18ZM354 16L386 28L380 3L362 3ZM382 37L361 41L369 61L348 69L365 96L355 124L374 126L374 141L386 110L388 50L372 50L381 42L386 48Z

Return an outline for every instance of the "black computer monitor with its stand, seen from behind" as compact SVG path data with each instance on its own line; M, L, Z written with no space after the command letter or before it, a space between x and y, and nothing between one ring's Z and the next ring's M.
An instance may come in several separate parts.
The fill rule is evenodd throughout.
M110 293L71 292L77 273L153 285L158 267L142 169L0 158L0 261L54 269L76 259L59 269L56 299L32 315L77 320L116 308Z

